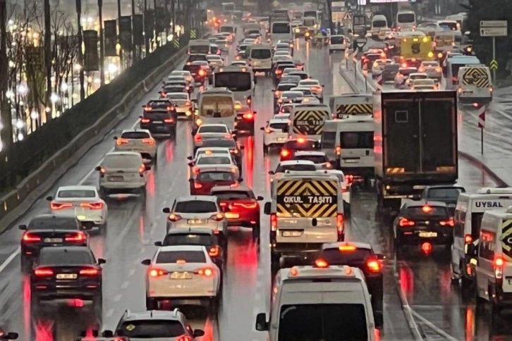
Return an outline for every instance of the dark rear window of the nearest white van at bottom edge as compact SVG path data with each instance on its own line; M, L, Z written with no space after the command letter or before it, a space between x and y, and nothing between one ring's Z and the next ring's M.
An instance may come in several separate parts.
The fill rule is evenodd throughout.
M365 306L362 304L281 306L278 340L368 340Z

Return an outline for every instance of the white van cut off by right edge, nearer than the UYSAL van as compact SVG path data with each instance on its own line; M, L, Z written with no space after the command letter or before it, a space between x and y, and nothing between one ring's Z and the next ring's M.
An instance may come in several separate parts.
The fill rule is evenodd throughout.
M491 318L499 315L501 308L512 306L511 232L512 207L484 213L480 241L475 250L476 304L480 308L488 301Z

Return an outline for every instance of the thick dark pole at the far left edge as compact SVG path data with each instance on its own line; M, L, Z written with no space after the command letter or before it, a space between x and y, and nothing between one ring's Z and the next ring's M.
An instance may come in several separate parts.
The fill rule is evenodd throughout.
M0 151L11 149L13 144L13 120L7 99L7 4L0 0ZM3 128L2 128L3 126Z

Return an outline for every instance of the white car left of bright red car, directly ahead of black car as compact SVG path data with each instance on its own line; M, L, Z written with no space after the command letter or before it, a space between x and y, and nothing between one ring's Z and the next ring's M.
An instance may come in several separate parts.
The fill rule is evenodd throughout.
M212 190L209 188L208 193ZM211 195L189 195L174 199L171 209L162 210L167 213L166 233L170 230L183 228L205 228L219 235L221 246L226 249L228 221L222 213L219 199Z

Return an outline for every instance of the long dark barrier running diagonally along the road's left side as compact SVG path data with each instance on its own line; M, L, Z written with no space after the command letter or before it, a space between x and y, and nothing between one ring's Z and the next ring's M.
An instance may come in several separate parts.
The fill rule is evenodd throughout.
M188 39L186 40L188 41ZM121 120L129 115L129 109L144 97L147 89L156 86L161 81L162 75L170 73L183 60L186 55L186 45L185 42L181 44L185 47L179 50L171 44L161 46L153 54L128 68L123 75L106 85L104 89L102 89L103 87L98 89L90 97L71 108L70 112L64 113L58 120L52 120L30 135L30 137L32 135L36 137L32 138L32 143L39 140L40 144L35 147L39 148L43 154L41 157L44 157L46 161L35 171L27 174L14 190L0 198L0 233L8 229L19 216L28 211L37 199L47 192L69 168L78 163L87 151L101 142ZM172 55L171 58L169 58L170 55ZM151 68L151 63L156 63L157 67ZM144 72L146 73L144 74ZM101 103L101 101L108 101L108 103ZM90 113L84 113L85 109L96 111L94 112L96 120L87 122L83 117L77 116ZM103 111L101 111L102 109ZM73 125L73 127L70 128L69 125ZM71 140L70 136L66 136L65 133L59 133L58 128L62 126L69 128L68 133L78 129L79 132L71 135L71 137L75 136ZM39 135L42 135L43 132L46 134L37 136L38 132ZM66 142L66 139L71 141ZM44 149L47 146L54 147L59 144L63 146L61 149L56 150L52 155L44 155ZM49 149L51 150L51 148ZM21 160L25 156L20 154L17 157ZM30 160L26 160L26 162L30 162ZM14 162L2 161L4 168L0 167L0 171L6 170L8 163L13 164ZM8 169L6 171L16 175L18 170Z

